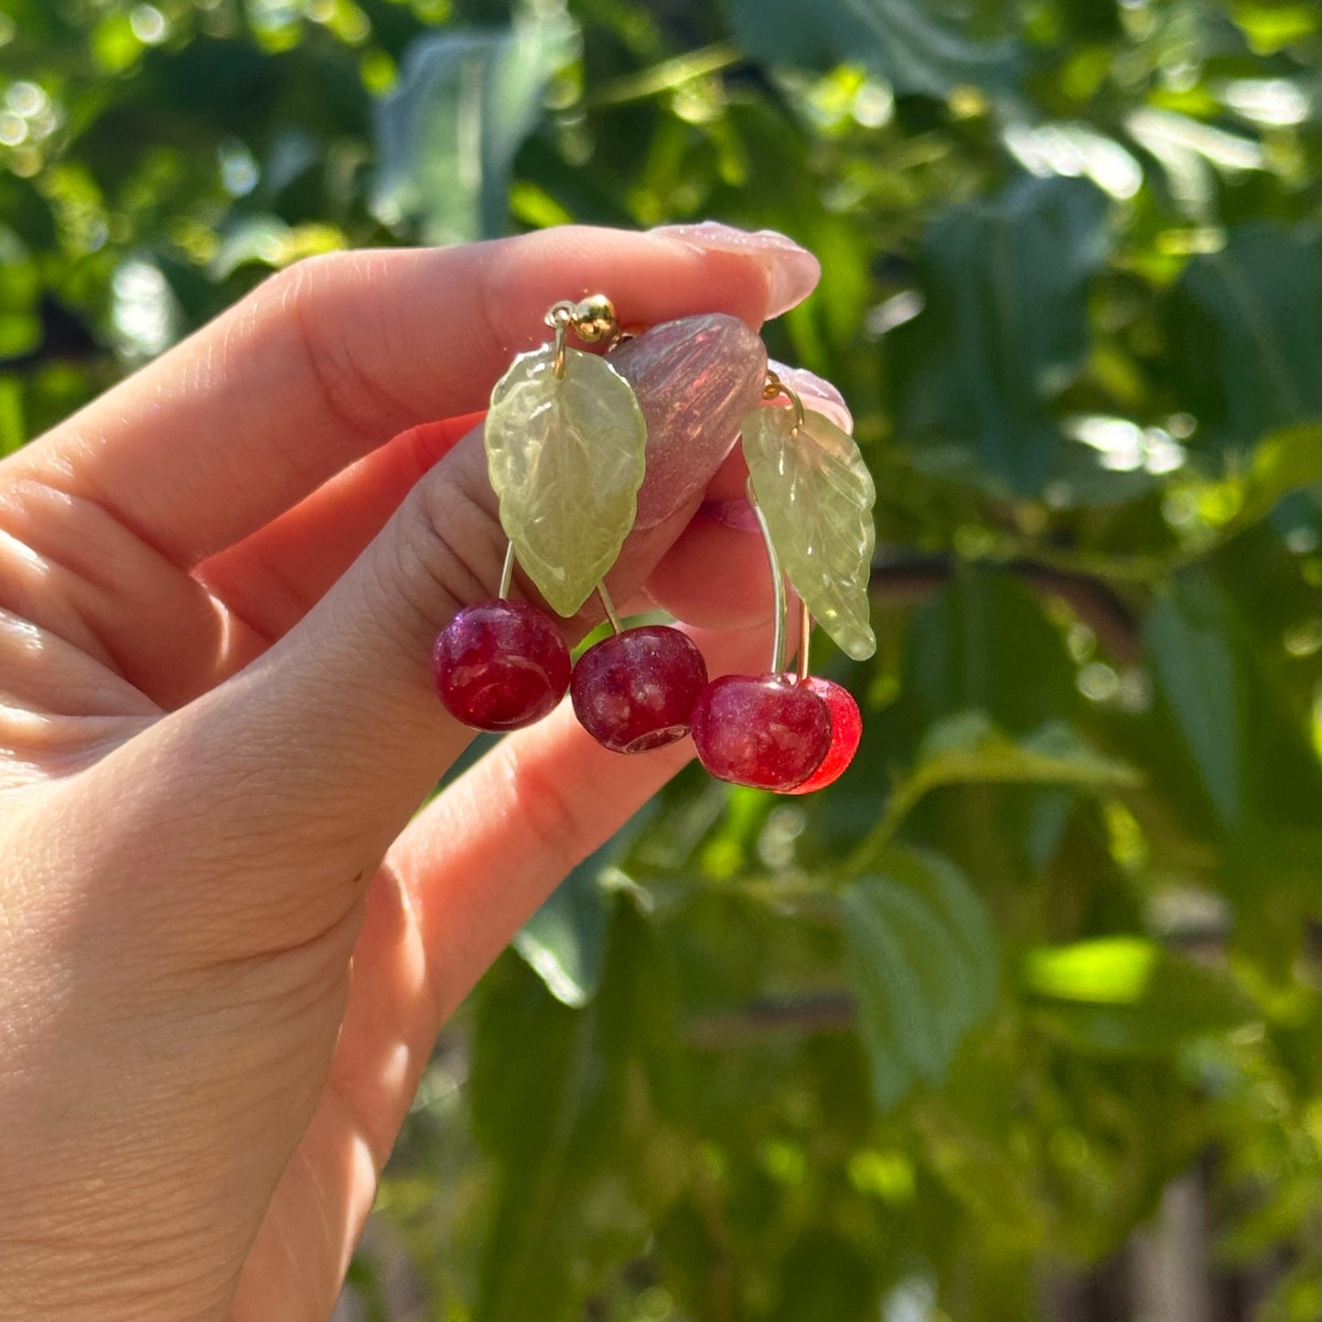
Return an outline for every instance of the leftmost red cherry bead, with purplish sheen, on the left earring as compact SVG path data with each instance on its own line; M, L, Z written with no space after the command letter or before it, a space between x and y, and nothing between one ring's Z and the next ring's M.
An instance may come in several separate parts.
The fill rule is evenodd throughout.
M465 607L446 625L431 669L452 717L479 730L517 730L564 697L570 649L545 611L496 599Z

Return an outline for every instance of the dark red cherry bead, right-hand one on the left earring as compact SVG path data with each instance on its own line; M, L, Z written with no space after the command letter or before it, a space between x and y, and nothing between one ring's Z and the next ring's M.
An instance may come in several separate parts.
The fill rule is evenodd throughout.
M603 639L574 666L570 698L583 728L613 752L646 752L689 732L707 664L693 640L665 624Z

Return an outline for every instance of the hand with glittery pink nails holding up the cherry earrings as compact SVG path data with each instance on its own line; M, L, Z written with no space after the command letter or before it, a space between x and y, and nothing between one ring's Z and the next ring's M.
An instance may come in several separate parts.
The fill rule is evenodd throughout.
M0 1317L327 1317L440 1023L686 756L562 707L414 816L504 554L479 411L566 295L755 328L814 279L702 230L315 259L0 464ZM763 358L710 340L620 350L666 420L611 586L720 620Z

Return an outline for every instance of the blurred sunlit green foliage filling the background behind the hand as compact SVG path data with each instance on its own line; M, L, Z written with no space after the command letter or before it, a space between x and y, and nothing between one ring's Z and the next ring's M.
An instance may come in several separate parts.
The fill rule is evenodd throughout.
M575 871L362 1306L1042 1317L1199 1161L1322 1317L1315 4L0 0L0 451L305 254L703 217L822 258L767 334L878 480L863 748Z

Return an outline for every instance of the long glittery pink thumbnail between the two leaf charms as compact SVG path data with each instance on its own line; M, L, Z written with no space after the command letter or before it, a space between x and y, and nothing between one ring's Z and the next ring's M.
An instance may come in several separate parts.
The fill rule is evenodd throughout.
M611 353L648 423L648 475L636 529L694 502L730 452L767 375L761 338L738 317L713 312L653 327Z

